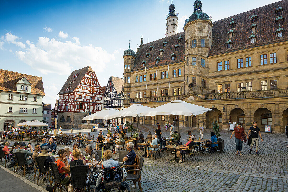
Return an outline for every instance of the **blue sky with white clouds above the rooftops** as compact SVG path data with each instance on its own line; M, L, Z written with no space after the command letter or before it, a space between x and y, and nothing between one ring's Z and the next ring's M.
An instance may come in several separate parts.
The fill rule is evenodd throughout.
M233 2L233 4L231 3ZM202 0L217 21L274 0ZM69 74L90 65L101 86L123 77L123 53L165 37L171 1L0 1L0 68L43 78L44 103L55 103ZM194 1L174 0L179 32ZM281 3L280 3L281 5ZM276 7L275 7L276 8Z

